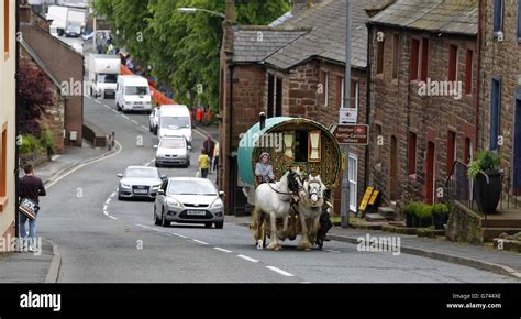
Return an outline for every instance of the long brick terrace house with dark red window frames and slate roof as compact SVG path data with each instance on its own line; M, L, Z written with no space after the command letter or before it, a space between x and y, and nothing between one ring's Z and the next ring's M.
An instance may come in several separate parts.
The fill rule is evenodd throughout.
M439 201L454 162L472 157L477 9L472 0L398 0L368 23L370 180L387 204Z

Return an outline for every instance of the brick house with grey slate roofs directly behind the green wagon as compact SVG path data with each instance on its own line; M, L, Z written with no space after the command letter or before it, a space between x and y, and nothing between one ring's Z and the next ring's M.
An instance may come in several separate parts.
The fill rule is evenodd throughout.
M366 72L369 13L388 1L353 1L353 58L351 103L358 122L367 121ZM244 202L237 187L235 151L241 133L267 117L303 117L325 127L339 122L345 70L346 1L295 0L291 12L269 26L237 26L228 1L221 51L220 145L218 183L228 196L228 212ZM328 21L328 23L324 23ZM366 147L352 147L350 156L351 209L367 185ZM335 201L340 205L340 188ZM233 208L233 210L232 210ZM335 208L340 211L340 207Z

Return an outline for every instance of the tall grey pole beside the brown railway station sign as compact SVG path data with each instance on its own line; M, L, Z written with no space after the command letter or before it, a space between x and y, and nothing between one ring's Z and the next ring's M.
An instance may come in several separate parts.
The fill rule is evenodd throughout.
M351 32L352 32L352 0L345 0L347 7L346 16L346 35L345 43L345 76L344 76L344 108L351 108ZM356 118L356 117L355 117ZM356 120L354 121L356 123ZM342 178L342 210L341 226L346 228L350 226L350 145L344 147L345 169Z

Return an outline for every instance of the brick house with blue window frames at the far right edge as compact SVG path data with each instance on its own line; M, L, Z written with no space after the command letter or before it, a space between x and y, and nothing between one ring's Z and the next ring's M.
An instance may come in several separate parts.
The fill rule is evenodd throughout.
M521 195L521 1L480 1L479 148L503 160L503 193Z

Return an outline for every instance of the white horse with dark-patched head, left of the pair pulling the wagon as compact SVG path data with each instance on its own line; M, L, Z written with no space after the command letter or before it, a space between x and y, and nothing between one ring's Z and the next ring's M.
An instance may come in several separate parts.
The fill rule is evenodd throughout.
M255 241L257 248L263 248L262 224L264 222L264 213L269 216L270 238L268 250L278 251L281 249L278 242L277 219L284 220L281 238L286 238L289 223L289 215L291 212L292 199L296 197L304 197L302 189L302 179L300 168L289 169L280 182L260 184L255 190L255 212L257 215Z

